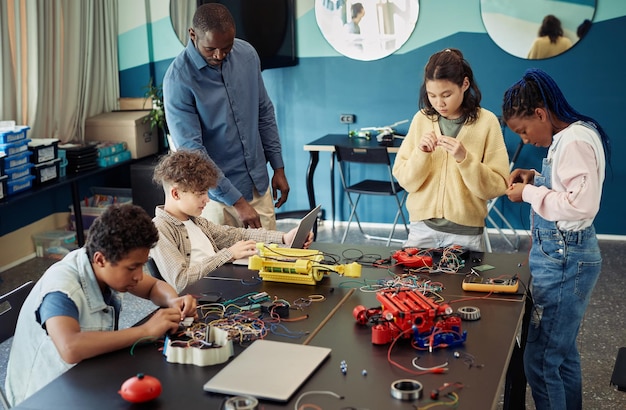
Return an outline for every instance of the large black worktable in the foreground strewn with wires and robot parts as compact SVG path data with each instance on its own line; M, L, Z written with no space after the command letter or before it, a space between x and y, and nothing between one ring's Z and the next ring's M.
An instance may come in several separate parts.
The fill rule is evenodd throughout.
M316 243L314 247L335 254L349 248L347 245L323 243ZM368 254L380 253L382 256L390 251L386 247L360 247L360 249ZM491 271L494 276L518 273L522 280L527 282L529 277L527 268L517 266L524 258L523 254L485 254L483 263L496 267ZM292 331L310 331L317 328L318 332L306 342L333 349L330 358L300 391L296 392L289 403L263 401L261 402L263 409L293 408L301 393L313 390L330 390L345 396L341 401L325 395L307 397L307 403L315 403L325 409L349 406L372 410L409 409L413 408L411 402L394 399L389 393L393 381L405 378L420 381L424 385L426 397L430 390L444 382L462 382L465 387L458 392L460 408L494 407L524 310L522 294L458 303L458 306L477 306L482 312L479 321L463 322L463 329L468 332L465 345L458 349L435 350L432 354L417 352L420 356L420 365L426 367L448 361L449 372L443 375L412 376L389 365L388 346L372 345L371 328L357 325L352 317L352 310L356 305L373 307L377 304L373 293L354 290L358 287L357 282L364 283L365 279L389 277L386 269L364 267L363 278L360 280L330 274L315 286L259 282L255 276L254 271L249 271L245 267L228 265L215 271L211 278L193 284L188 290L192 294L219 291L225 298L265 290L272 296L284 297L290 301L310 294L322 294L327 298L326 302L312 303L308 310L303 311L310 314L309 319L286 325ZM443 294L449 303L461 296L483 296L460 290L463 275L436 276L436 280L444 283ZM458 307L454 302L452 306L455 309ZM271 335L268 339L303 343L302 339L286 339L276 335ZM172 364L163 358L157 348L157 344L150 343L136 347L132 356L130 349L123 349L86 360L15 409L219 408L224 396L205 393L202 385L225 364L207 367ZM471 353L476 358L476 364L485 366L469 368L462 359L453 357L455 350ZM236 347L235 351L238 353L241 349ZM403 341L399 341L392 352L392 357L396 361L405 365L408 363L408 366L415 355L416 351ZM342 360L348 365L345 375L340 371ZM364 369L367 371L365 376L361 373ZM117 393L123 381L139 372L155 376L163 384L161 396L153 402L146 403L145 406L127 403ZM271 377L271 375L259 370L258 374L250 377ZM427 403L428 398L419 401L420 405Z

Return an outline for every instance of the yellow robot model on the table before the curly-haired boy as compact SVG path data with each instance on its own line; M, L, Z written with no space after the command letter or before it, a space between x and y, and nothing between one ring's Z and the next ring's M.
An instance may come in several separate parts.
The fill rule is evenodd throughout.
M257 249L259 254L250 257L248 269L258 270L263 280L315 285L328 272L351 278L361 276L361 265L356 262L345 265L323 264L324 255L321 251L281 248L276 244L263 243L258 243Z

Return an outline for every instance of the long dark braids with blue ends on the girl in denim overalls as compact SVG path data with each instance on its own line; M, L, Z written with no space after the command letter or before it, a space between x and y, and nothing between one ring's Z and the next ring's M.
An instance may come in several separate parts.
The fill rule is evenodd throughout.
M586 121L597 129L602 139L602 146L610 163L611 144L609 136L596 120L576 111L565 99L556 82L545 71L538 68L526 70L521 80L504 92L502 119L506 122L512 117L527 117L535 108L544 108L561 121L571 124Z

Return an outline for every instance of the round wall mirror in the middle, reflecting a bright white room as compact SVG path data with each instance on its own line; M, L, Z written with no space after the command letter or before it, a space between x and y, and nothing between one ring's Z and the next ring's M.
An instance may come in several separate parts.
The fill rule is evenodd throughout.
M317 26L337 52L371 61L393 54L409 39L418 0L315 0Z

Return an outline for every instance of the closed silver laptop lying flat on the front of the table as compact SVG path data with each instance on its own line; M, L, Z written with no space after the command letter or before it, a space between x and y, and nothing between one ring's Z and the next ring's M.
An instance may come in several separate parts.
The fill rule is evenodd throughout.
M288 401L330 355L330 348L255 340L204 384L204 390Z

